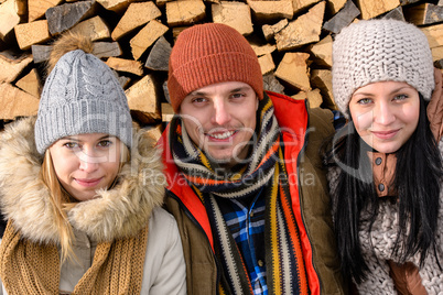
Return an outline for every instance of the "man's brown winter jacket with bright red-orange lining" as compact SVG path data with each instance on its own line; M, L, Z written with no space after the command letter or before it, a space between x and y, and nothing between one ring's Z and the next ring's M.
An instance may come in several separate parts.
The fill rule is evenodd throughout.
M267 92L267 95L272 100L277 123L280 127L280 132L277 132L278 134L274 140L279 139L281 142L275 144L275 141L267 138L269 142L264 142L260 151L263 153L270 151L269 149L272 146L277 148L277 150L279 150L279 146L284 146L284 154L281 156L284 159L283 162L289 181L288 187L279 192L279 194L288 194L289 201L283 204L285 199L284 195L275 195L275 199L271 203L277 204L279 203L278 200L281 200L281 204L283 204L281 206L293 214L292 222L294 223L288 223L283 227L290 230L294 230L298 227L300 251L303 256L302 263L304 263L307 287L311 294L343 294L345 291L343 277L338 269L335 239L332 232L329 200L325 190L326 183L318 157L320 144L325 136L334 132L332 124L333 114L327 110L320 109L309 113L304 101L296 101L273 92ZM260 103L268 106L267 99L264 96L264 99ZM273 119L270 119L269 124L266 123L264 125L270 131L273 124L275 122ZM177 220L181 231L187 267L187 292L188 294L218 294L218 282L224 280L224 273L222 265L219 265L220 260L216 253L218 253L220 247L220 241L217 239L223 234L219 233L220 229L210 225L217 218L219 219L219 217L213 216L210 211L217 206L210 204L208 198L199 196L201 192L203 195L206 194L205 188L194 187L193 189L190 186L188 182L184 178L190 177L190 175L186 175L186 170L179 171L179 166L174 161L177 159L176 153L180 154L180 150L179 152L176 151L175 134L169 138L169 134L173 134L176 129L173 124L170 124L169 129L171 130L166 130L160 141L162 146L168 146L163 152L169 183L169 197L166 197L165 204L166 208ZM309 134L307 129L311 130ZM273 133L270 132L269 134ZM183 136L183 134L180 135ZM260 138L260 134L258 136ZM175 153L175 159L173 153ZM272 153L275 153L275 151L272 151ZM259 159L261 157L259 156ZM263 159L267 157L264 156ZM259 167L258 163L249 164L247 170L249 168L252 172L255 166ZM181 165L181 168L183 168L183 165ZM202 175L210 178L207 172L203 172ZM195 179L192 183L196 186L198 185L198 182L195 182ZM212 188L208 189L210 190ZM229 192L229 188L227 192ZM241 194L245 193L241 187L238 192ZM231 193L236 194L236 190L233 189ZM268 204L267 206L270 205ZM290 212L284 214L291 215ZM285 219L284 215L282 218ZM272 220L278 221L275 219ZM292 243L287 245L291 247ZM270 255L270 251L268 248L267 255ZM235 252L229 253L236 256ZM278 249L275 253L279 253ZM294 254L292 259L296 259ZM274 287L279 283L283 283L281 276L274 276L272 273L272 264L274 262L267 259L266 263L268 286ZM282 270L280 269L280 271ZM271 284L271 277L275 278L277 282ZM284 291L284 286L282 288ZM269 292L272 294L272 292L278 293L279 291L275 287Z

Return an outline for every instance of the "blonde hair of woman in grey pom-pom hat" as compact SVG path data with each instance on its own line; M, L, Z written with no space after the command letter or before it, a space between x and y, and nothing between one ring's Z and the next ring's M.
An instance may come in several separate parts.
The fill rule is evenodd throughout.
M130 160L130 152L128 146L126 146L125 144L121 145L122 149L120 150L119 173L121 172L125 163L129 162ZM43 183L50 189L50 200L55 216L55 226L58 230L60 245L62 252L61 261L63 263L66 259L75 259L75 254L72 248L74 232L67 218L67 211L75 206L75 203L77 203L77 200L75 200L75 198L73 198L58 182L50 149L45 151L40 176ZM117 184L117 182L118 175L110 187L108 187L108 189L112 188Z

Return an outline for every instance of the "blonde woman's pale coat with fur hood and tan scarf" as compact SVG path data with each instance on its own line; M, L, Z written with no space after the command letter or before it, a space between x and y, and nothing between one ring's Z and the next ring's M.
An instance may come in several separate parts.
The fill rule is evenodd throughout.
M0 204L10 220L0 244L2 294L32 294L28 287L33 285L43 285L45 294L185 294L176 222L160 207L160 152L141 132L134 132L137 153L122 166L118 183L68 210L76 258L60 265L55 214L39 176L42 156L35 149L34 121L13 122L0 138ZM23 251L33 251L28 267L13 267ZM35 271L28 272L36 274L32 285L26 270Z

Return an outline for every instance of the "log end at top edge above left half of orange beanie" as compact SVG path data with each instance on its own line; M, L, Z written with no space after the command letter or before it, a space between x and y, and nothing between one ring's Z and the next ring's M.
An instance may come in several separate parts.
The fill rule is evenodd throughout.
M206 7L202 0L177 0L166 2L169 26L188 25L206 18Z

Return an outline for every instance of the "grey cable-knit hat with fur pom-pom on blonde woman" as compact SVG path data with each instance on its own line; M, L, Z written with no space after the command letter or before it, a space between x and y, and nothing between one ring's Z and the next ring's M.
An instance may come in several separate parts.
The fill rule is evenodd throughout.
M85 43L82 36L68 35L54 45L54 51L68 52L43 87L35 122L40 154L64 136L83 133L115 135L131 148L132 119L125 91L105 63L78 50Z

